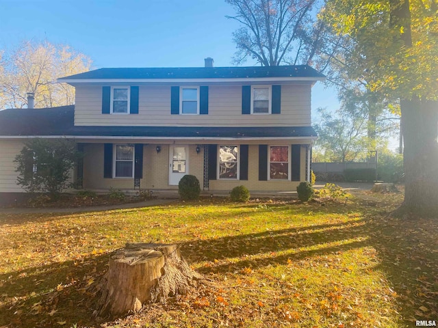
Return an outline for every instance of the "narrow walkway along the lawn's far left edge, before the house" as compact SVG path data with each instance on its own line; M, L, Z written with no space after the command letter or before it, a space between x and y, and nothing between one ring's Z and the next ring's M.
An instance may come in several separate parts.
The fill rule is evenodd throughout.
M69 208L0 208L1 214L32 214L32 213L81 213L81 212L100 212L102 210L120 210L125 208L143 208L149 206L165 205L175 200L146 200L138 203L126 203L115 205L102 206L84 206L84 207L69 207Z

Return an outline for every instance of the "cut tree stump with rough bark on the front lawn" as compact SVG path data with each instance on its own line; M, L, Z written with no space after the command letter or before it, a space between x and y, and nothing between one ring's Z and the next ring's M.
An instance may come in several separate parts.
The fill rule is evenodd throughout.
M94 314L114 317L138 312L145 303L185 295L201 279L181 257L177 245L127 243L110 259Z

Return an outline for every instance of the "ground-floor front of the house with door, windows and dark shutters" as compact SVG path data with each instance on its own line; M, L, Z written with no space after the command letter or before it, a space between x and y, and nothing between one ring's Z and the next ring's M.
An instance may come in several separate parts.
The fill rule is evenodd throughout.
M231 145L231 146L222 146ZM272 146L275 145L275 146ZM224 141L200 143L79 143L83 159L75 170L77 189L107 192L139 190L177 197L185 174L198 178L203 194L228 195L244 185L252 195L290 197L301 181L309 180L311 143L270 141L268 144ZM235 149L231 160L223 150ZM283 159L276 159L281 152ZM227 153L228 154L228 153Z

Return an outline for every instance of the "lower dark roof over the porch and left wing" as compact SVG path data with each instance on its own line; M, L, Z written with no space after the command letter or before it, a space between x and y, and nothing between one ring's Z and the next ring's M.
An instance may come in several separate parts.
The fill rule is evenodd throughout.
M75 126L75 106L0 111L0 135L71 135L94 137L311 137L311 126Z

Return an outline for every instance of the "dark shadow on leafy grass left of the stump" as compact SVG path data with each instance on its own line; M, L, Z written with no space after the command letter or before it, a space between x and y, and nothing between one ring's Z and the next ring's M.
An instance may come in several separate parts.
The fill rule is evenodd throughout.
M96 324L96 284L110 254L56 262L0 275L0 327Z

